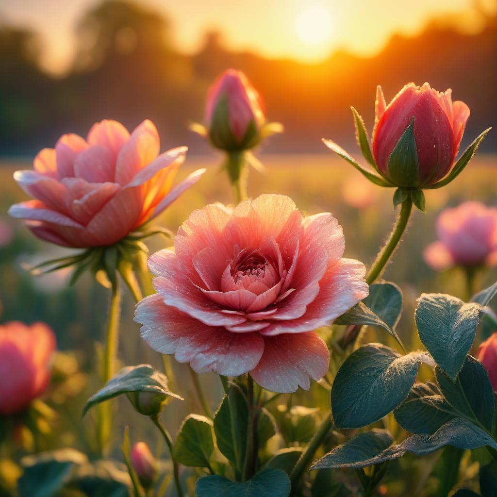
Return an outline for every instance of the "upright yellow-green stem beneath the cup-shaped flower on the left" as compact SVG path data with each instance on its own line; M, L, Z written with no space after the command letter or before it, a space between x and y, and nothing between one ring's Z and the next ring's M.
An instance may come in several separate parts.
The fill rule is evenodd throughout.
M109 321L107 324L107 336L105 341L105 362L103 370L103 384L105 385L114 375L115 362L119 340L119 318L121 314L121 291L119 278L116 277L112 285L110 298ZM100 407L100 419L98 423L98 440L100 450L106 452L106 445L110 436L112 417L112 405L106 402Z

